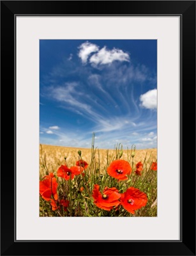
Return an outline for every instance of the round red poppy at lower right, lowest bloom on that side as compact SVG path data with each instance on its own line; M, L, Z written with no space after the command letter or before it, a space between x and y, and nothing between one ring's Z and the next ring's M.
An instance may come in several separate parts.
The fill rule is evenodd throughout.
M135 214L135 210L146 206L147 195L137 188L130 187L121 194L121 205L126 211Z

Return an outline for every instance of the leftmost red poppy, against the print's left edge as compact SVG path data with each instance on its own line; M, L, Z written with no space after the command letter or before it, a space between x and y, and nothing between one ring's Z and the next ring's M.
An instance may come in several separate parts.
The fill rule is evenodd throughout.
M57 200L57 181L53 173L43 177L44 180L40 180L40 195L43 199L49 201L51 196Z

